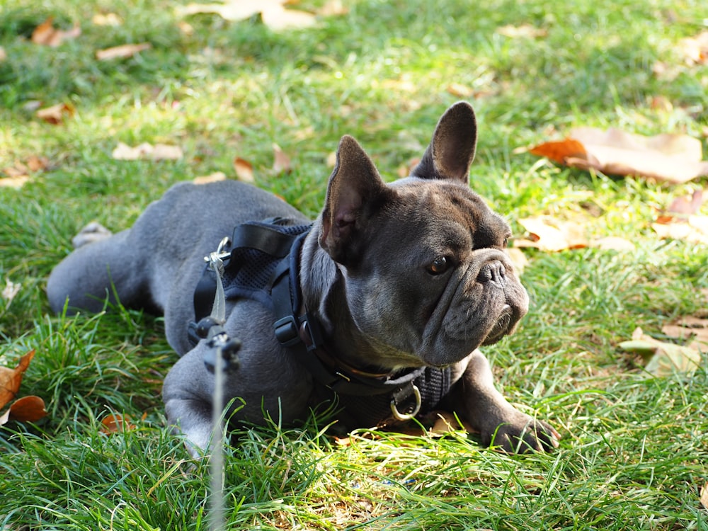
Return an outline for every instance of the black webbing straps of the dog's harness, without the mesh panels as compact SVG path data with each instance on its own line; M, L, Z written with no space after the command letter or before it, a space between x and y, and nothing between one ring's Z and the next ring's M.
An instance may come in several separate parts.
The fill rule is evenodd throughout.
M244 267L244 249L255 249L278 261L274 264L275 267L270 269L273 271L270 281L263 287L263 295L267 296L267 302L272 304L275 314L275 337L282 346L297 356L312 374L314 381L321 386L343 396L380 396L377 404L382 404L384 409L389 411L389 416L399 419L414 416L421 409L421 402L423 409L428 402L437 403L440 397L431 395L423 387L430 383L433 374L433 379L447 379L449 382L449 370L420 367L400 373L376 374L351 367L329 352L318 316L307 309L302 312L304 306L298 278L299 256L309 229L303 227L302 230L293 231L295 234L287 233L285 229L280 231L278 227L260 222L238 225L234 229L230 250L219 254L219 258L224 261L224 269L219 273L224 273L225 270L226 276L234 278ZM219 273L212 274L207 266L195 290L195 323L191 323L188 329L193 344L204 337L203 331L199 333L197 323L210 314L215 294L219 299L220 292L220 300L224 300L224 288L219 287L222 275ZM418 387L422 389L422 398L421 389ZM449 384L443 386L442 391L438 388L435 392L446 392L447 389ZM384 396L386 394L387 396ZM407 405L401 406L404 402Z

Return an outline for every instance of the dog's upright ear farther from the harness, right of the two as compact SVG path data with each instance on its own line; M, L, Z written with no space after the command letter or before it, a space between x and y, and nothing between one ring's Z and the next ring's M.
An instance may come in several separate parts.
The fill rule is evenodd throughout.
M474 109L466 101L458 101L440 117L433 139L411 176L467 184L476 145Z

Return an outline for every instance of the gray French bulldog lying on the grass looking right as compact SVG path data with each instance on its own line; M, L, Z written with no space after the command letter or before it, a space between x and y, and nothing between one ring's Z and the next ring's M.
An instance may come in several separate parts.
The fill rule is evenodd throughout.
M348 428L445 409L486 445L557 447L552 426L498 392L479 350L515 329L528 297L503 252L508 224L468 187L475 148L476 119L465 102L447 109L420 164L393 183L382 181L355 139L341 139L324 209L288 254L297 270L295 343L304 345L276 337L278 314L263 297L226 301L222 329L241 341L239 367L224 384L232 421L293 423L333 399ZM205 364L212 346L188 333L205 256L235 226L273 218L310 223L252 185L181 183L130 229L84 229L50 275L55 312L98 312L108 297L164 313L167 339L181 355L164 381L166 413L193 452L212 434L215 377ZM302 333L309 328L318 331L314 348L314 333Z

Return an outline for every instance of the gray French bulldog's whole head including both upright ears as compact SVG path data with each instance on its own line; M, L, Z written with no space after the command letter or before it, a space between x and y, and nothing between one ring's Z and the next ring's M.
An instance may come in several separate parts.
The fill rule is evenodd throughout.
M511 333L527 312L503 253L509 226L467 183L475 147L464 102L442 115L411 176L389 185L355 139L341 139L319 243L338 263L378 365L450 365Z

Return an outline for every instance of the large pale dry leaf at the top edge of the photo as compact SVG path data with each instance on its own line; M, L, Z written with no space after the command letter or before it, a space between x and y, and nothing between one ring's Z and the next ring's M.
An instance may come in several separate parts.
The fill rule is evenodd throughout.
M216 13L227 21L243 21L261 13L263 23L273 31L309 28L316 18L312 13L286 9L286 0L227 0L223 4L189 4L181 9L185 15Z

